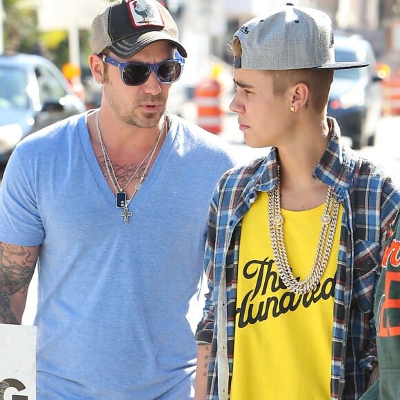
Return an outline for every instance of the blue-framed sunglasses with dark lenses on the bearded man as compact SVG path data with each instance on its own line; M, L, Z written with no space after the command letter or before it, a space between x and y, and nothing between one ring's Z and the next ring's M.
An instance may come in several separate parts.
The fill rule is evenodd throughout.
M157 79L161 83L176 82L182 74L185 60L177 57L180 54L175 52L174 59L161 61L155 64L147 63L120 63L107 54L99 54L104 63L116 66L121 71L121 79L128 86L143 85L150 77L150 73L154 71Z

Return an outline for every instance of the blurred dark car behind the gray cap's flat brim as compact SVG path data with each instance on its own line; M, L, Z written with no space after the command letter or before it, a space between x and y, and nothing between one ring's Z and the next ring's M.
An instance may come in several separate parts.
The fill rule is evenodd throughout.
M328 115L337 119L341 134L352 139L352 148L373 146L383 108L381 77L370 43L359 34L334 37L337 61L367 61L365 68L335 70Z

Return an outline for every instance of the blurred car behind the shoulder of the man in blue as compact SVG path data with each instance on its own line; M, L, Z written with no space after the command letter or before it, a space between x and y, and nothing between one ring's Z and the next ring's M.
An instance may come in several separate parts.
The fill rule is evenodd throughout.
M51 123L86 110L59 68L32 54L0 55L0 164L17 143Z

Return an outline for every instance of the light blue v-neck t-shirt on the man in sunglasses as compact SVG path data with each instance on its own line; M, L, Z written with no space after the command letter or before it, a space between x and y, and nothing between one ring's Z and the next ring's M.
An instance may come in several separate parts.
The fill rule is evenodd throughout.
M176 116L121 209L86 113L24 139L0 190L0 241L38 246L37 399L186 399L203 252L228 145Z

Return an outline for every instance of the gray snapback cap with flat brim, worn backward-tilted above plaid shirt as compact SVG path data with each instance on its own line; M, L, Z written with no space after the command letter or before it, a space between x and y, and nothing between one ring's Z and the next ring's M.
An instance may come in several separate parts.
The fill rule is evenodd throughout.
M368 66L363 62L335 62L330 17L292 3L274 14L251 19L234 37L239 38L242 48L241 57L234 57L234 68L340 70Z

